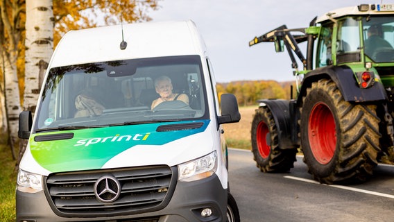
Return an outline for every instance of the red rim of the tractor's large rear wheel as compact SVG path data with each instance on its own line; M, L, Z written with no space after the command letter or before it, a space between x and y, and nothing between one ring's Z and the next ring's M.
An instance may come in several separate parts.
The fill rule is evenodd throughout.
M320 164L330 162L336 148L336 126L334 115L325 103L317 103L311 110L308 138L316 160Z

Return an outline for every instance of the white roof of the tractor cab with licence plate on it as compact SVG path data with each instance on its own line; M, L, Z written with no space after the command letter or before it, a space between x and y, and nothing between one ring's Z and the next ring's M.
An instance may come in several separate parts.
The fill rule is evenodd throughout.
M318 17L317 23L325 22L329 19L336 19L346 15L385 15L394 14L394 4L361 4L347 8L338 8Z

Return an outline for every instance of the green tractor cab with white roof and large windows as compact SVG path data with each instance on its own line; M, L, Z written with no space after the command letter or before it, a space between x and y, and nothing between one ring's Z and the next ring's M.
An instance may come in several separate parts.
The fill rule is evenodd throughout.
M393 4L341 8L319 17L316 24L316 69L347 65L363 88L370 87L377 74L383 85L393 86L388 76L394 71Z

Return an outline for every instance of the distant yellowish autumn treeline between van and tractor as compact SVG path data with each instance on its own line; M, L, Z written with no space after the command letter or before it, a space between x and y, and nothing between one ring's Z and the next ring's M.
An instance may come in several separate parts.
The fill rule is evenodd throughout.
M218 83L216 90L219 97L231 93L237 97L239 105L255 105L259 99L290 99L291 85L293 96L296 95L295 82L277 82L274 80L243 80L230 83Z

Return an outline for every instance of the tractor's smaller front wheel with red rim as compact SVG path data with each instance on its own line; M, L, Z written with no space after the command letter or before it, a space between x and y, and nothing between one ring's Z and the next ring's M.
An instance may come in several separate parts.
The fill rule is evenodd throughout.
M262 172L287 172L294 167L297 150L282 149L271 110L260 107L252 121L252 152L257 168Z

